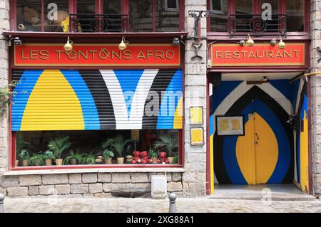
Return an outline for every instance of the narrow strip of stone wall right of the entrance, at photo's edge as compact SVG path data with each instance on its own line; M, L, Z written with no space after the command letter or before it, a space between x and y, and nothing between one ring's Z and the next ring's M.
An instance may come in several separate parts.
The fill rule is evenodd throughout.
M321 48L321 1L311 0L310 15L310 64L311 72L321 71L321 57L317 47ZM311 76L311 148L312 148L312 179L313 192L321 194L321 75Z

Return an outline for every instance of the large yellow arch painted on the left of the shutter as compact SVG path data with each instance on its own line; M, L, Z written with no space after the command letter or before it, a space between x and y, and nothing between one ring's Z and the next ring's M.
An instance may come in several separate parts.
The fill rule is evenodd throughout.
M21 131L84 130L83 112L60 70L44 70L24 110Z

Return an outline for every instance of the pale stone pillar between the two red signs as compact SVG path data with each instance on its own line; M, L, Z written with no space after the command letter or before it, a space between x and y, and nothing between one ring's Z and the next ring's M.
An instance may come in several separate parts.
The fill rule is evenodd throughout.
M206 138L206 40L198 55L202 57L191 59L195 55L192 46L194 36L194 18L188 16L188 11L206 10L206 0L185 0L185 29L188 40L185 41L185 172L183 174L183 196L205 196L206 175L206 144L202 146L190 145L190 107L203 107L204 138ZM206 36L206 19L201 19L201 36ZM205 141L206 142L206 141Z

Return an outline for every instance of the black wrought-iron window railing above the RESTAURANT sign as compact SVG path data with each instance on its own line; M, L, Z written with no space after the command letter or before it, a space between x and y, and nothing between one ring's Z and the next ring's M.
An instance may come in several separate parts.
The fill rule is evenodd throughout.
M237 33L252 33L257 36L266 36L268 33L286 36L287 15L272 14L270 19L263 19L262 14L230 14L230 35Z

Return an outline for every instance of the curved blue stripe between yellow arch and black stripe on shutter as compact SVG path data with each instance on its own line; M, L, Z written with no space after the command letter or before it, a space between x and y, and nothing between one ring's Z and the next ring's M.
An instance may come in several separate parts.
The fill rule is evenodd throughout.
M85 130L100 130L101 124L95 101L80 73L77 70L61 70L61 73L68 80L81 103Z

